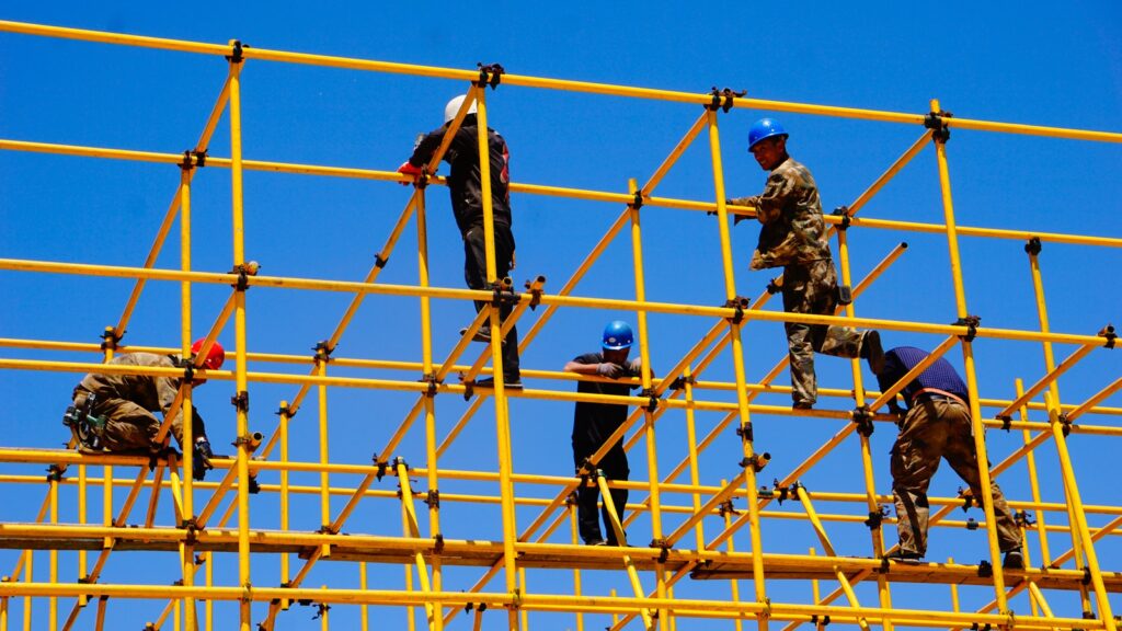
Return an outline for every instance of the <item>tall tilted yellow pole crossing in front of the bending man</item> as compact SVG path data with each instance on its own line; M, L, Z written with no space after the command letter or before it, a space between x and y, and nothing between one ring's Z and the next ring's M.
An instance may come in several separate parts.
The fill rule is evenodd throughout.
M931 99L931 111L939 112L938 99ZM960 320L965 320L968 311L966 309L966 290L963 286L962 259L958 256L958 230L955 226L955 207L950 196L950 170L947 166L947 136L936 131L932 134L935 140L936 162L939 166L939 186L942 193L942 213L947 226L947 247L950 253L950 275L955 285L955 307ZM978 479L982 486L982 506L985 510L986 539L990 543L990 558L993 566L993 588L996 593L997 611L1003 614L1010 613L1009 601L1005 596L1005 575L1001 567L1001 549L997 543L996 519L993 512L993 490L990 487L990 457L985 449L985 428L982 426L982 408L978 404L978 382L977 371L974 366L973 341L963 338L963 365L966 368L966 387L971 395L971 424L974 430L974 447L978 458Z

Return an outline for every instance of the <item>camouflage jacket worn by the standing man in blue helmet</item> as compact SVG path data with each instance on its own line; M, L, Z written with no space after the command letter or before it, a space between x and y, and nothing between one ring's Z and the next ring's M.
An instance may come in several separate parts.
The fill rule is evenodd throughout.
M830 258L818 185L810 171L793 158L771 172L762 194L732 201L756 207L756 219L763 223L748 265L752 269Z

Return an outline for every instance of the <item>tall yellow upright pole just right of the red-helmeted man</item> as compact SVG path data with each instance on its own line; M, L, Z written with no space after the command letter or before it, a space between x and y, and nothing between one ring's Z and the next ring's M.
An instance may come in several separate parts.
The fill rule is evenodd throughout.
M236 42L230 45L240 53L241 46ZM240 55L230 58L230 181L233 203L233 267L241 268L246 263L246 227L242 205L242 163L241 163L241 60ZM234 384L238 401L238 584L247 593L252 587L249 573L249 393L246 376L246 292L239 289L234 293L234 338L236 359ZM242 597L239 603L241 631L250 631L251 602Z

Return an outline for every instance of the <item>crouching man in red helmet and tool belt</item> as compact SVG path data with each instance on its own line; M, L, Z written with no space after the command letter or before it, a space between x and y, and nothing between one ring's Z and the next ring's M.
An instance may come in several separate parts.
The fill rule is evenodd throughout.
M191 346L192 355L202 349L203 341L199 339ZM203 368L217 371L224 360L226 351L215 341L206 353ZM176 355L153 353L118 355L109 364L181 369L186 366ZM182 381L182 377L90 373L74 388L74 404L66 410L63 423L71 428L79 449L83 452L150 454L162 447L153 443L160 426L153 412L160 411L165 417L171 412ZM197 374L191 381L193 386L204 383L205 376ZM206 439L206 427L199 410L192 408L192 412L194 478L203 479L206 469L214 468L210 461L214 452ZM182 447L183 414L177 413L172 421L172 435Z

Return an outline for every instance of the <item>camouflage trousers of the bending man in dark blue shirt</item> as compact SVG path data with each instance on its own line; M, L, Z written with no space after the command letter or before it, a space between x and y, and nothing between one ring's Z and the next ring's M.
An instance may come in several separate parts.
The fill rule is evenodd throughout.
M927 552L927 523L930 509L927 488L946 458L958 477L969 485L982 502L978 458L974 447L969 410L956 401L936 399L913 405L900 427L892 447L892 496L896 504L900 548L905 552ZM997 541L1006 552L1021 545L1021 533L1005 496L991 483Z

